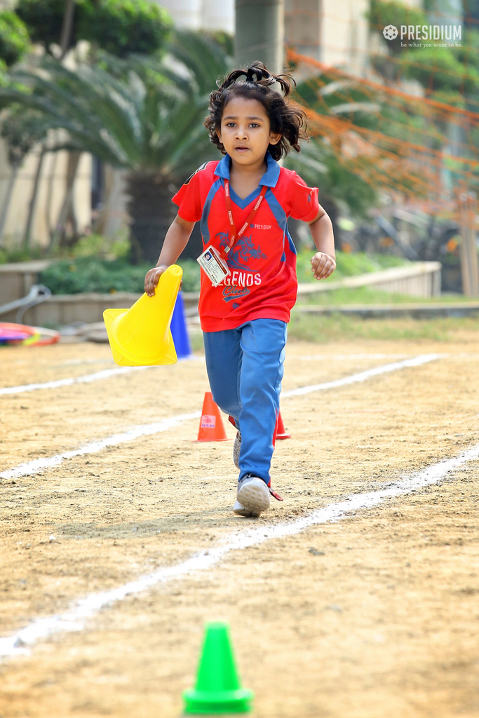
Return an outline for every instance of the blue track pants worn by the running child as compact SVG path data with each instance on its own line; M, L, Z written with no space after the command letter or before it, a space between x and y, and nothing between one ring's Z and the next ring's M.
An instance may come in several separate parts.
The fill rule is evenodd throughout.
M241 431L239 480L251 473L269 485L286 336L286 323L273 319L203 332L213 399Z

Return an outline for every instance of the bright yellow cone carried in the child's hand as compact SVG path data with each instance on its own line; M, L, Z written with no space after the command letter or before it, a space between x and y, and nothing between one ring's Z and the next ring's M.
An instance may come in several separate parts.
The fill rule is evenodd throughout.
M169 325L183 270L172 264L160 276L154 297L143 294L130 309L105 309L103 321L111 353L120 366L175 364Z

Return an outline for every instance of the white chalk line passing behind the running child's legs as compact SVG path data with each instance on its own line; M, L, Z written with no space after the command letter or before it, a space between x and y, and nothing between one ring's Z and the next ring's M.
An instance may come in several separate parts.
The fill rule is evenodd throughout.
M351 376L345 376L335 381L327 381L322 384L312 384L310 386L302 386L298 389L292 389L291 391L285 391L282 393L282 397L288 398L289 396L301 396L302 394L311 393L312 391L322 391L324 389L330 389L338 386L347 386L355 382L366 381L366 379L372 376L378 376L380 374L389 373L405 367L420 366L430 361L434 361L441 357L440 354L424 354L414 359L406 359L401 362L394 362L393 364L384 364L373 369L361 371L358 374L352 374ZM168 429L172 429L178 424L182 424L183 421L189 419L199 419L201 416L200 411L195 411L193 414L180 414L180 416L172 416L169 419L163 421L154 422L154 424L144 424L140 426L134 426L133 429L129 429L127 432L122 434L113 434L111 437L101 439L99 442L91 442L85 444L85 446L79 449L73 449L71 451L63 452L62 454L55 454L52 457L45 457L34 459L32 461L25 462L19 466L13 467L0 473L0 479L14 479L18 476L32 476L38 472L47 469L52 466L58 466L65 459L72 459L75 456L83 456L84 454L94 454L101 449L108 446L115 446L116 444L123 444L139 437L144 437L149 434L158 434L159 432L165 432Z

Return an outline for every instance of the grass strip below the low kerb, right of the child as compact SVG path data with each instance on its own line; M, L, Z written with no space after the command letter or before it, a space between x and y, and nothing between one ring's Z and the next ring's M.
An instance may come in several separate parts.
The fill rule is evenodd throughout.
M288 325L289 339L328 344L355 339L433 340L452 342L463 332L479 332L478 317L438 317L432 320L361 319L345 314L327 317L292 314Z

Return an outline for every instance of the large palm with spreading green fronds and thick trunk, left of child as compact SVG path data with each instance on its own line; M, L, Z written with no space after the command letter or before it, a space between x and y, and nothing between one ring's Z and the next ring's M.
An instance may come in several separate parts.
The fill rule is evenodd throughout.
M96 65L80 62L70 70L42 58L36 67L12 71L11 85L0 88L0 103L35 108L51 129L66 130L68 140L57 149L88 151L128 170L135 256L156 261L175 215L172 192L215 157L203 118L210 90L227 66L220 45L182 32L161 60L103 53Z

